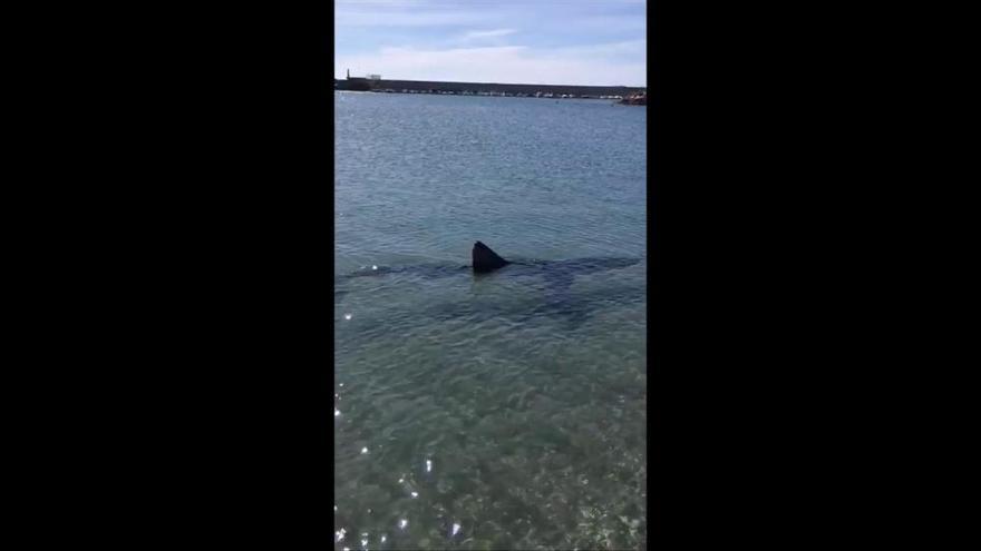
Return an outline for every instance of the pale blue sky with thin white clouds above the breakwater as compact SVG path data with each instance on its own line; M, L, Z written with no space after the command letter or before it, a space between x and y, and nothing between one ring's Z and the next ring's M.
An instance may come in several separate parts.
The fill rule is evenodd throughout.
M336 0L334 77L647 86L645 0Z

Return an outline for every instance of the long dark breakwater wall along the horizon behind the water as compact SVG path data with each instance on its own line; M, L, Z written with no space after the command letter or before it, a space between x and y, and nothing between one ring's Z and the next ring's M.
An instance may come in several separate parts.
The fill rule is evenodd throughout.
M430 80L334 79L337 90L387 91L404 94L454 94L522 97L621 97L644 88L628 86L509 85L498 82L438 82Z

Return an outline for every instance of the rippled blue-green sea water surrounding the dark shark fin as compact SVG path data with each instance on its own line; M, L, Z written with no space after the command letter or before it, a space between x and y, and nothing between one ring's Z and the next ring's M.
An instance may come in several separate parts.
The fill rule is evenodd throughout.
M639 548L647 110L334 107L336 549Z

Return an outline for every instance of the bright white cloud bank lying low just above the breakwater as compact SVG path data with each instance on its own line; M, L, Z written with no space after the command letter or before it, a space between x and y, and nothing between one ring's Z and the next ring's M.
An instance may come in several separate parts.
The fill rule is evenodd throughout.
M338 77L379 73L396 80L512 82L532 85L647 86L643 40L536 50L524 46L454 48L382 48L342 56Z

